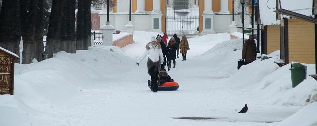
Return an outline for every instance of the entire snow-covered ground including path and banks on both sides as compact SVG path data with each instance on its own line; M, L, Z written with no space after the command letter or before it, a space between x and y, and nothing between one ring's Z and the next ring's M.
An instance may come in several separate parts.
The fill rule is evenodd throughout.
M179 89L151 92L146 60L135 63L157 34L136 31L123 49L15 64L15 95L0 95L1 126L317 126L317 82L307 77L292 88L290 65L274 63L279 51L237 70L241 39L229 34L190 38L188 60L176 59L169 72ZM248 113L238 114L244 104Z

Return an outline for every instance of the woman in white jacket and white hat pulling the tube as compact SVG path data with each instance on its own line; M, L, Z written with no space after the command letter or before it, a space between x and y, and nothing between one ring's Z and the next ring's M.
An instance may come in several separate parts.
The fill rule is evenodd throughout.
M148 67L148 73L151 76L150 88L151 88L151 91L157 92L158 91L157 80L159 76L160 66L164 62L164 55L163 55L161 46L159 43L157 43L157 40L155 39L155 37L151 38L151 42L146 44L145 48L146 50L144 51L140 59L137 61L137 65L139 66L139 63L146 56L149 56L147 67Z

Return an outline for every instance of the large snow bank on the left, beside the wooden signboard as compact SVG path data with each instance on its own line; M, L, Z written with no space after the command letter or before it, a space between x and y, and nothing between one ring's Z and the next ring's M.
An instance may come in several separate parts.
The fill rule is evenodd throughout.
M0 95L1 126L59 122L48 110L76 104L81 87L93 86L98 78L111 80L134 63L118 47L97 46L76 54L59 52L39 63L15 64L14 95Z

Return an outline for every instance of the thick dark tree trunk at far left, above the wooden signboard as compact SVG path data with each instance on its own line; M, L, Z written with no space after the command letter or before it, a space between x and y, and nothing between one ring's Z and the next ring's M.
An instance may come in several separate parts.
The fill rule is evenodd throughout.
M21 40L19 3L19 0L3 0L0 14L0 46L18 56ZM19 59L15 63L19 63Z

